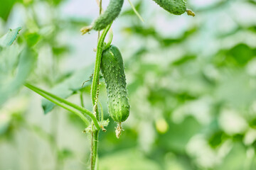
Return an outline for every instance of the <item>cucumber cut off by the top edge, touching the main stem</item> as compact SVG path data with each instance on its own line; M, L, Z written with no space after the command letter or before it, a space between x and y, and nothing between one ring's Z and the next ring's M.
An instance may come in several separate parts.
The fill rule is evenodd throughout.
M115 18L119 15L124 0L110 0L110 4L107 6L107 9L102 13L92 24L92 29L94 30L103 30L107 27Z

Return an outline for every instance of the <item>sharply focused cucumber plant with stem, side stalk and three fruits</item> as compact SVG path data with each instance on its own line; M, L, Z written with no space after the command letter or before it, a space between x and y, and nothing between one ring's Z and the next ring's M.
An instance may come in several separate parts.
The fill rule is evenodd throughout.
M91 135L91 157L90 157L90 169L95 170L97 167L97 145L100 130L106 132L105 126L108 124L108 120L103 120L103 112L101 109L101 115L98 109L98 95L99 95L99 81L100 71L105 79L107 88L107 104L108 111L111 118L117 122L116 135L120 137L122 132L122 122L129 117L129 100L126 89L126 78L124 74L124 63L122 60L122 54L119 49L111 45L113 33L110 31L110 39L105 43L105 37L109 30L111 30L112 22L119 15L124 0L110 0L110 4L104 13L102 12L101 0L96 0L100 6L100 16L90 26L85 26L80 31L82 34L87 33L90 30L98 30L98 42L95 59L94 72L92 74L91 84L91 98L92 98L92 111L87 110L83 106L78 106L74 103L66 101L64 98L55 96L54 94L44 91L29 83L24 84L28 89L35 91L37 94L43 96L48 101L55 103L56 105L65 108L66 110L75 113L85 123L85 132L90 132ZM130 0L134 12L139 16L132 2ZM195 16L193 11L186 8L186 3L183 0L154 0L156 4L159 4L162 8L169 13L175 15L181 15L185 12L188 16ZM141 16L139 18L143 21ZM100 30L103 30L100 34ZM87 77L89 78L89 77ZM81 84L82 85L82 84ZM82 100L82 99L81 99ZM91 120L89 120L89 118Z

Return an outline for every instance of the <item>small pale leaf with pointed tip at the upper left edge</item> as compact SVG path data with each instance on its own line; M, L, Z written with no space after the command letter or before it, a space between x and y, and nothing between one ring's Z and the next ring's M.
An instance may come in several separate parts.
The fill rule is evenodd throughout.
M0 38L0 45L3 47L7 47L12 45L14 40L16 40L18 32L21 30L21 27L18 27L14 30L9 29L8 33Z

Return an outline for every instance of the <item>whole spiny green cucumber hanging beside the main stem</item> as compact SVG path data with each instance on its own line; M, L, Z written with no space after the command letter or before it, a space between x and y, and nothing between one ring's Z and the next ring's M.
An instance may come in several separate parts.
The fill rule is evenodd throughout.
M102 53L101 72L107 84L107 103L111 118L116 122L124 122L129 116L124 63L121 52L111 45Z

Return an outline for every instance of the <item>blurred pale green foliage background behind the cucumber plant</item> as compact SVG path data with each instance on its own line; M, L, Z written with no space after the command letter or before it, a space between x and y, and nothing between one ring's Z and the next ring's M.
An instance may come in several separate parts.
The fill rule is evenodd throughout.
M103 7L109 1L103 0ZM256 169L256 1L188 0L196 17L154 1L128 1L112 25L131 104L119 140L100 133L100 170ZM92 109L90 79L98 15L91 0L0 0L0 169L89 169L90 135L75 115L24 81ZM107 113L105 84L100 102ZM48 112L47 114L44 114Z

